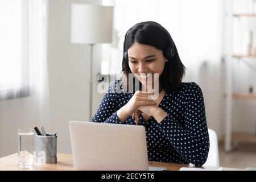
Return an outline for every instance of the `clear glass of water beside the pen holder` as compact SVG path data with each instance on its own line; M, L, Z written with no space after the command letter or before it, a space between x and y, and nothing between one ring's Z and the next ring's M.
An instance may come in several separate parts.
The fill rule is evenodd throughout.
M34 162L34 129L18 129L18 166L31 168Z

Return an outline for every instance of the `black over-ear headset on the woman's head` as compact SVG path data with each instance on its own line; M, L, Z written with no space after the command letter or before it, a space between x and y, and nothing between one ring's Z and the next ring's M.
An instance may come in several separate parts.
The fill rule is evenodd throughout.
M162 30L164 30L169 36L170 36L170 44L167 44L167 46L164 48L164 52L163 52L163 55L164 57L166 57L167 59L172 59L174 58L174 55L175 55L175 48L174 48L174 41L172 40L171 38L171 35L170 33L166 30L166 28L160 26L160 24L156 23L156 22L142 22L142 23L137 23L135 24L133 27L131 27L125 34L125 41L123 42L123 61L122 61L122 71L125 71L125 63L128 63L128 53L127 53L127 50L126 50L126 47L125 47L125 43L126 43L126 38L127 38L127 35L129 34L130 30L133 29L135 26L138 26L139 24L141 25L145 25L145 24L152 24L154 26L157 26L159 28L162 28Z

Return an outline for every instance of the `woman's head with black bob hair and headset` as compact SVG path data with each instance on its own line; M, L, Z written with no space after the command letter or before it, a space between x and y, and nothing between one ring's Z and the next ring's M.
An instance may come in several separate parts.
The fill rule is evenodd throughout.
M129 73L158 73L160 90L170 91L184 76L185 67L171 35L156 22L131 27L125 35L123 52L123 71L127 78Z

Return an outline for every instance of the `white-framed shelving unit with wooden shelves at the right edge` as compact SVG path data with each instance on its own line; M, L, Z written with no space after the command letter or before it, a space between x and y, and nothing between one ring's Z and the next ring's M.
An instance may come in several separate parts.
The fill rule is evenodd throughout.
M226 48L226 54L228 57L228 61L226 61L226 93L224 94L225 99L225 151L229 152L232 150L234 146L232 146L232 142L234 140L241 141L241 142L253 142L256 143L256 135L255 134L246 134L246 133L233 133L232 132L232 122L233 122L233 113L234 111L233 104L237 104L236 102L248 102L246 104L250 104L250 102L256 101L256 92L254 89L250 88L241 91L242 93L237 93L236 90L234 90L234 86L232 85L233 82L233 74L236 71L233 67L232 61L241 61L243 64L245 64L250 69L256 70L254 67L254 64L251 63L251 61L256 61L256 52L254 47L252 46L252 42L248 43L246 46L246 49L248 52L239 53L239 52L233 52L232 46L233 43L236 42L238 39L242 39L242 32L238 30L238 32L234 32L234 30L237 28L237 26L243 28L243 30L249 31L249 39L253 37L253 33L255 31L255 27L249 26L249 24L254 24L254 21L256 20L256 12L254 10L251 11L244 11L244 12L237 12L235 11L234 7L242 6L243 2L234 2L234 1L227 1L226 2L226 8L224 11L226 12L226 23L225 23L225 31L224 35L227 37L225 41L225 48ZM249 21L248 23L244 24L243 20ZM247 25L248 24L248 25ZM237 34L236 34L237 33ZM230 48L231 47L231 48ZM230 57L231 56L231 57ZM230 59L231 58L231 59ZM231 61L232 60L232 61ZM253 65L251 65L253 64ZM243 77L243 76L242 76ZM240 82L242 82L241 80ZM234 83L236 84L236 83ZM237 82L236 85L238 85L239 82ZM249 85L248 85L249 87ZM250 90L250 91L249 91ZM239 92L239 91L238 91ZM229 97L227 97L229 96ZM234 103L235 102L235 103ZM245 104L245 103L244 103ZM246 108L242 108L246 109ZM238 114L238 113L237 113ZM248 115L247 117L253 117L253 115ZM253 119L253 118L252 118ZM241 121L242 122L242 121ZM236 144L236 143L234 143Z

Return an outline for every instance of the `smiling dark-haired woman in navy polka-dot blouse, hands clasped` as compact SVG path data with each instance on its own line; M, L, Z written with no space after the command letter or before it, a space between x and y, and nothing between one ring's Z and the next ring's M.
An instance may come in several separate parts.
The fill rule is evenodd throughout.
M139 90L116 92L125 84L115 81L91 121L143 125L148 160L202 166L209 151L203 93L195 82L181 82L185 67L168 31L156 22L131 27L123 43L123 72L127 87L132 73ZM156 90L158 98L148 97Z

